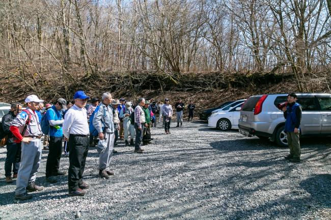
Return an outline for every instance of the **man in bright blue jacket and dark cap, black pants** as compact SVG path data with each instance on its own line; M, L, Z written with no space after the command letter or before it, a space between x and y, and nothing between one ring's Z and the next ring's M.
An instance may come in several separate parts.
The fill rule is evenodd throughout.
M66 174L65 171L59 171L63 139L62 124L64 120L61 112L63 109L67 109L67 101L60 98L47 110L45 115L49 122L49 152L46 162L46 181L50 183L58 181L56 176Z

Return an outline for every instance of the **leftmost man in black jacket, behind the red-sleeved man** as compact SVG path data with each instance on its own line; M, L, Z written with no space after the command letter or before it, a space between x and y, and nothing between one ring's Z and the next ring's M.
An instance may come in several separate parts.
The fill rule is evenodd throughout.
M20 103L13 103L10 107L10 111L2 119L3 130L7 139L7 157L5 161L5 176L6 182L12 183L13 178L17 178L17 172L19 168L19 162L21 158L21 143L15 143L13 140L13 134L9 130L10 123L15 119L16 115L22 110L22 105ZM13 177L12 177L13 171Z

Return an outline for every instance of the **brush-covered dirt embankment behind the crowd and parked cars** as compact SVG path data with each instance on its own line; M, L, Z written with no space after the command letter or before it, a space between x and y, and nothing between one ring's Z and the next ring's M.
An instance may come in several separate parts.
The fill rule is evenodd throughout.
M105 71L102 74L85 77L79 68L70 74L51 72L42 78L25 80L2 74L0 102L23 101L32 93L46 102L59 97L70 100L75 91L85 90L91 97L100 97L102 92L111 91L114 98L125 97L135 102L143 96L162 101L178 98L184 103L192 101L197 110L214 107L224 101L247 98L261 93L297 92L297 83L292 74L276 73L160 73L151 71ZM0 73L1 75L1 73ZM307 76L310 92L330 92L330 73ZM27 83L30 82L30 83Z

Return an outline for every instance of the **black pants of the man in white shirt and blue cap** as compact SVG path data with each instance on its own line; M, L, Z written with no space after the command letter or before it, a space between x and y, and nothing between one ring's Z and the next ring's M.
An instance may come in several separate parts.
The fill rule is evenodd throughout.
M69 170L68 188L69 192L78 190L82 184L82 174L85 170L86 157L89 151L89 138L69 136Z

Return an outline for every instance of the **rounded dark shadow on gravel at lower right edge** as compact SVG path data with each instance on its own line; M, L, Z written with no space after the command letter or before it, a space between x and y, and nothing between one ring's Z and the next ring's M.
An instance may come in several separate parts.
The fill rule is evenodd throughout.
M300 182L300 186L306 190L316 202L331 208L331 175L319 174Z

